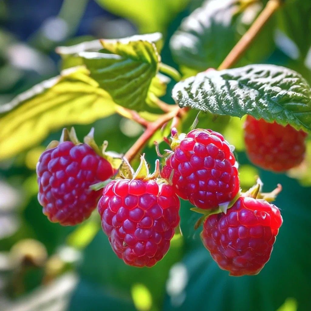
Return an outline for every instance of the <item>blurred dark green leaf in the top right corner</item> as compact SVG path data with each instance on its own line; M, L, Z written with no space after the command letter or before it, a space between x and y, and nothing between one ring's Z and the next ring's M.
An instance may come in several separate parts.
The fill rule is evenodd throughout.
M311 46L311 2L285 1L276 16L279 29L295 42L304 59Z

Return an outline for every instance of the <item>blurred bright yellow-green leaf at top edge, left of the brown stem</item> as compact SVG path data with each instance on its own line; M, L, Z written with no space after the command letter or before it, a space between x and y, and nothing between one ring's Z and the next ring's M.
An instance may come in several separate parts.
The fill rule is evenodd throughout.
M132 21L140 33L165 32L189 0L96 0L107 11Z

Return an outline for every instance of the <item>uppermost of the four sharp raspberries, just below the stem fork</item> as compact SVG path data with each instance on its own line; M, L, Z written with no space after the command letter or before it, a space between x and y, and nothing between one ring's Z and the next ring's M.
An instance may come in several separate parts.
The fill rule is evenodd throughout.
M230 202L239 192L236 166L230 145L221 134L195 129L181 139L166 159L161 176L173 177L179 197L196 207L214 209Z

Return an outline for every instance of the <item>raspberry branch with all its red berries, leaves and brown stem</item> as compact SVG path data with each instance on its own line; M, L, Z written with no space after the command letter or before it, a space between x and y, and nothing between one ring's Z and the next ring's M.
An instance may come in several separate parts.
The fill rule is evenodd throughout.
M58 77L0 106L1 159L31 148L49 131L112 114L144 128L122 154L106 152L106 143L99 148L92 132L80 143L74 130L68 134L64 129L37 165L38 200L49 220L77 225L97 207L111 248L129 266L160 264L174 236L185 231L185 240L190 235L196 239L194 229L201 225L202 245L231 276L256 275L273 256L283 219L271 202L281 186L272 193L262 193L261 181L248 191L240 188L240 152L226 137L234 140L232 120L245 116L244 143L252 164L295 177L299 170L310 169L305 158L311 131L308 77L261 64L274 48L267 27L284 1L269 0L249 27L241 14L257 1L216 1L193 11L172 36L170 48L179 71L162 63L158 32L101 39L95 50L94 42L63 46L57 48L63 60ZM225 27L228 16L230 29ZM280 27L286 29L283 22ZM220 37L227 40L220 42L221 53L215 53L214 41ZM267 44L258 55L261 40ZM306 56L305 50L301 53ZM160 98L172 84L175 103L168 104ZM30 125L39 123L40 109L66 113L29 135ZM19 117L11 122L15 115ZM114 142L118 137L106 139ZM138 159L154 140L152 157L160 161L149 174L145 157ZM132 167L137 166L135 172ZM191 214L183 210L183 201L191 205ZM209 256L207 251L204 256Z

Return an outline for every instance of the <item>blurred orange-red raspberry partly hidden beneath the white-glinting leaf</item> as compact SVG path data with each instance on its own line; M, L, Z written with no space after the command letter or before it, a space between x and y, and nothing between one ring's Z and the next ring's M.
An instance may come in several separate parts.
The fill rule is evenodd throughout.
M244 140L249 159L263 169L274 172L288 170L299 165L306 151L307 133L297 131L289 124L285 127L263 119L247 116L244 124Z

